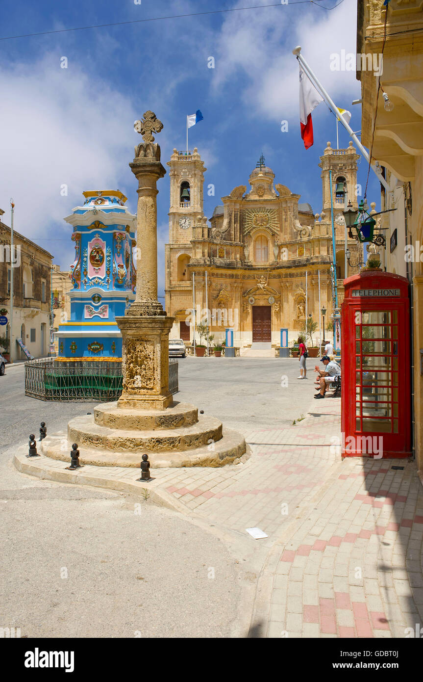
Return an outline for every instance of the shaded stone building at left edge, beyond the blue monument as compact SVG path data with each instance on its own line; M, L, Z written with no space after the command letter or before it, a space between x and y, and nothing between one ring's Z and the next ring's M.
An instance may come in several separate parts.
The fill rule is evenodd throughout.
M10 227L1 222L0 211L0 314L7 317L7 325L0 327L0 336L9 339L12 361L26 356L18 339L33 357L48 355L50 340L50 271L52 255L14 230L11 252ZM10 343L10 284L13 277L14 308Z

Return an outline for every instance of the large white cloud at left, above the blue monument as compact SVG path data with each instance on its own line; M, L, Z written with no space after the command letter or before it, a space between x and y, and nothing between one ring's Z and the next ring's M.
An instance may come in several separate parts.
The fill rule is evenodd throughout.
M29 238L57 223L54 236L69 239L63 217L84 201L82 192L123 190L129 179L138 142L131 101L75 63L61 69L57 55L3 68L0 89L7 93L0 109L0 207L7 214L13 196L16 230ZM60 243L38 243L56 255L61 250Z

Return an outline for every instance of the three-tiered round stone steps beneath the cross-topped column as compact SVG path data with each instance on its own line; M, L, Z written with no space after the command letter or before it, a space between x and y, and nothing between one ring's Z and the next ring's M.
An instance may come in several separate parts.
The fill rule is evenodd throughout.
M121 409L116 402L98 405L94 415L75 417L63 434L47 436L42 452L69 461L72 443L80 449L80 464L140 466L148 454L151 466L223 466L249 457L245 439L223 429L215 417L198 416L198 409L178 403L166 410Z

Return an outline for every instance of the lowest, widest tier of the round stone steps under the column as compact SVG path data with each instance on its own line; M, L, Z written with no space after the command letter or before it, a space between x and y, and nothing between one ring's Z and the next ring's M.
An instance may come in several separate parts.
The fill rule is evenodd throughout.
M72 420L74 421L74 420ZM72 443L63 435L47 436L41 443L42 454L54 460L61 460L70 464ZM135 466L139 467L142 450L138 452L113 451L104 448L84 446L76 441L80 449L80 464L95 466ZM148 451L148 460L153 469L179 466L225 466L244 462L251 455L245 440L236 431L225 428L223 436L216 443L203 445L195 449L182 451Z

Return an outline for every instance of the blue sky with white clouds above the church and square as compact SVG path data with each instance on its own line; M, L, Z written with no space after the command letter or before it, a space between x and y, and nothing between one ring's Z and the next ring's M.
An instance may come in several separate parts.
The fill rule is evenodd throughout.
M326 104L313 113L314 145L304 149L298 113L302 54L337 106L360 131L360 83L354 71L333 71L330 55L356 53L355 0L2 0L0 39L74 27L125 25L0 40L0 208L14 226L69 269L72 227L63 221L85 190L119 189L136 213L136 179L129 162L141 141L134 121L153 110L163 122L156 141L161 162L186 145L186 116L204 120L189 130L208 168L208 218L238 185L248 184L263 153L275 183L286 185L313 212L322 211L318 167L328 140L336 147L335 118ZM266 5L274 5L268 6ZM254 7L250 10L239 8ZM216 12L201 16L178 14ZM153 21L145 21L154 19ZM63 59L66 58L67 61ZM208 68L213 57L214 68ZM66 63L67 68L62 68ZM282 132L281 122L287 121ZM283 126L286 128L286 126ZM349 136L339 125L339 147ZM358 182L366 184L361 160ZM66 189L63 189L66 186ZM158 183L159 294L168 241L169 175ZM67 191L67 194L65 192ZM371 173L369 205L380 205Z

